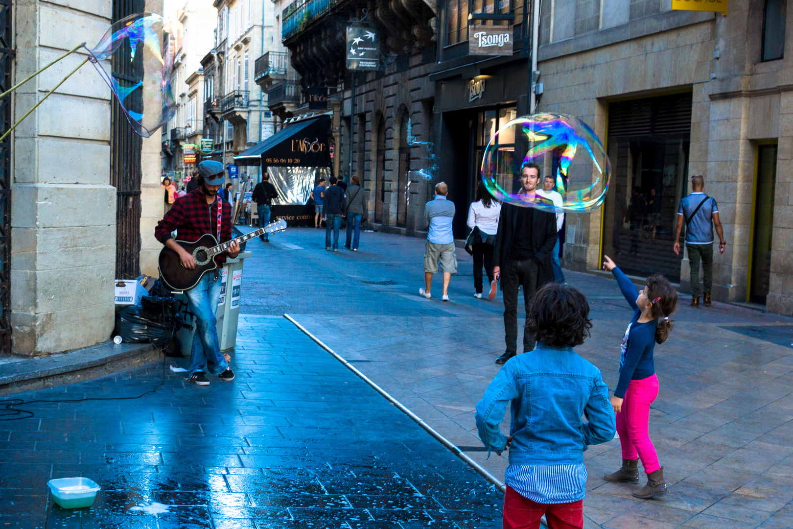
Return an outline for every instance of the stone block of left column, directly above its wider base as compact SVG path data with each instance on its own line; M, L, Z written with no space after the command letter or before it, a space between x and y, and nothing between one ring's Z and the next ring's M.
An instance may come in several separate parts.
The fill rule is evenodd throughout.
M110 173L110 146L102 143L40 138L36 140L40 172L37 182L51 184L106 184ZM53 171L53 167L58 167Z

